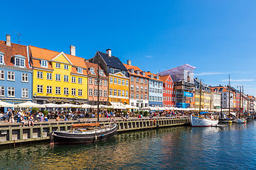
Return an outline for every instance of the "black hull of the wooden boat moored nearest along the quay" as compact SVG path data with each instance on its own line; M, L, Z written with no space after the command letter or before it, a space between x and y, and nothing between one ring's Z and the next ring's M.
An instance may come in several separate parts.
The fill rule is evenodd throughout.
M74 143L92 143L110 139L117 133L117 125L113 125L110 130L105 132L95 132L90 134L68 133L54 131L51 134L51 143L58 144L74 144Z

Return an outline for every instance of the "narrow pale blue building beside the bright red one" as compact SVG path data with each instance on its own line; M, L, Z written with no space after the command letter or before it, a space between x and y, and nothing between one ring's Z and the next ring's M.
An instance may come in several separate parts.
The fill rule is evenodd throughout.
M158 75L146 72L149 77L149 106L163 107L163 81Z

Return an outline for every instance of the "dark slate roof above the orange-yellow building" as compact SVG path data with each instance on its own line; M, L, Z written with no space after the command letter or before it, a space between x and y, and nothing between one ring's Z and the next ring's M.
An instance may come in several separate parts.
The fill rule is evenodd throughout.
M113 55L110 57L106 53L100 51L97 51L97 53L102 57L107 66L127 71L127 68L124 67L124 64L122 64L118 57L114 57Z

